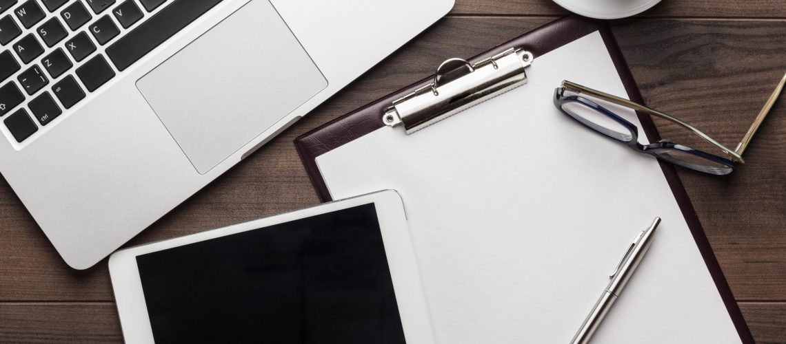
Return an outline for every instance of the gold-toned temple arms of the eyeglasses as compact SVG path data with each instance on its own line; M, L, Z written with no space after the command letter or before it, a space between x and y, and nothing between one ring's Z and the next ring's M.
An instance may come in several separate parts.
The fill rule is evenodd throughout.
M567 80L562 81L562 87L568 91L575 92L578 94L583 93L589 96L593 96L597 99L608 101L609 103L615 103L623 107L629 107L631 109L643 112L645 114L649 114L657 118L663 118L667 121L671 121L678 125L681 125L685 129L690 130L691 132L698 135L700 138L704 139L714 147L718 147L718 149L722 150L722 152L728 155L729 160L739 162L740 164L745 163L745 160L742 158L742 154L747 148L747 145L751 143L751 139L753 139L753 136L758 130L758 127L762 125L764 118L766 118L767 114L769 114L769 110L771 110L773 108L773 105L775 105L775 101L778 99L778 96L780 96L780 92L783 91L784 85L786 85L786 74L784 74L783 78L780 78L780 82L775 88L775 91L773 91L773 94L770 95L769 99L766 101L766 103L764 103L764 107L762 107L762 110L758 112L755 121L753 121L751 128L747 129L747 132L745 133L745 136L743 136L742 141L740 141L740 143L737 144L736 149L731 149L729 147L724 146L723 143L718 142L718 140L713 139L709 135L705 134L701 130L696 129L696 127L670 114L649 107L645 107L644 105L641 105L639 103L634 103L624 98L620 98L619 96L613 96L606 92L598 91L597 89L590 89L589 87L578 85L575 82L571 82Z

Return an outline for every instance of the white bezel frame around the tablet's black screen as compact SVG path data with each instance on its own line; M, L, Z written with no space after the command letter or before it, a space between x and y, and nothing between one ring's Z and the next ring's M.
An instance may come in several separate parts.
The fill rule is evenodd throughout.
M410 240L410 232L406 225L406 213L401 197L394 190L333 201L295 212L255 219L246 223L206 230L115 252L109 258L109 274L112 277L112 288L115 292L124 339L129 343L153 342L145 295L142 291L137 267L136 257L138 255L248 230L264 230L266 226L369 203L374 203L376 216L379 219L387 264L390 267L393 289L402 320L404 338L410 344L432 344L434 342L432 328L428 320L428 310Z

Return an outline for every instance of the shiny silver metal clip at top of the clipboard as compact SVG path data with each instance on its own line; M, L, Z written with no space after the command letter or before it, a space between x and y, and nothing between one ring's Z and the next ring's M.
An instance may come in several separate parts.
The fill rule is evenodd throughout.
M385 125L404 125L407 134L527 83L525 68L532 53L508 49L478 63L446 60L437 68L434 81L393 102L382 115Z

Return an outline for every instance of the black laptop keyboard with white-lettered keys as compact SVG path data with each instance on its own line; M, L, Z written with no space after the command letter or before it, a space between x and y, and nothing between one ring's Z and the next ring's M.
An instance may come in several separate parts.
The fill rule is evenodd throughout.
M0 118L38 132L222 0L0 0Z

